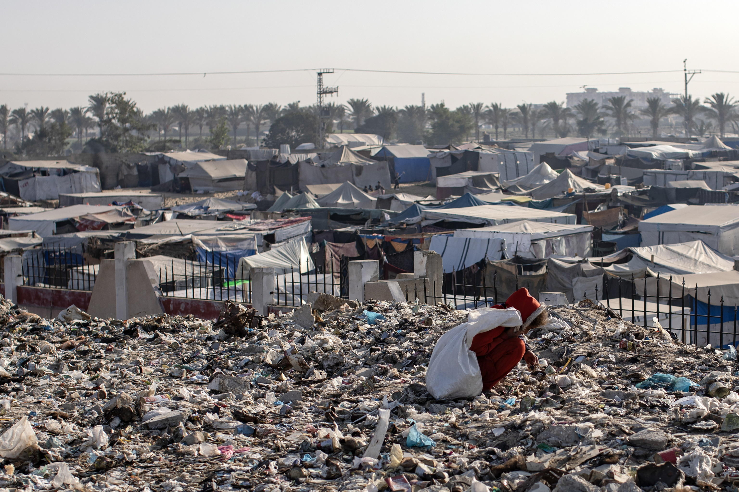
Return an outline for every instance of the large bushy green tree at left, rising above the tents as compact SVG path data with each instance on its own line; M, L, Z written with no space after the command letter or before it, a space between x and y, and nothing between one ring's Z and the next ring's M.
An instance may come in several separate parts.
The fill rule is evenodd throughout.
M103 95L105 114L102 120L98 120L102 134L88 142L97 142L110 153L136 153L143 150L148 139L146 132L154 125L146 122L143 112L137 108L134 100L126 99L125 92L106 92Z

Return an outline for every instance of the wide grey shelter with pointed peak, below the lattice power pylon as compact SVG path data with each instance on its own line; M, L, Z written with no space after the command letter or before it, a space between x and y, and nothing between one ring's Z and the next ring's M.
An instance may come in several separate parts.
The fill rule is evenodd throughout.
M384 188L389 189L391 184L387 162L368 159L346 145L336 152L319 154L317 162L314 162L314 159L299 162L298 180L301 190L307 190L308 185L344 181L360 188L375 187L379 182Z

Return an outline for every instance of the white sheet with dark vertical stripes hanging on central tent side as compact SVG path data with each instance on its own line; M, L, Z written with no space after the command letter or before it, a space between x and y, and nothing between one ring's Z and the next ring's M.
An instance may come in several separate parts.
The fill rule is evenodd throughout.
M429 251L441 255L445 274L468 268L481 260L500 260L505 251L505 240L500 238L454 238L435 235Z

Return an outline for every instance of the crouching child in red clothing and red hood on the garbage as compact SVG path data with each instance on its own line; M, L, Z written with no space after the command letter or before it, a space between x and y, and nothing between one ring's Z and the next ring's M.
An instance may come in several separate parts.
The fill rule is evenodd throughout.
M495 387L521 359L529 367L539 365L539 359L528 349L521 336L545 325L549 317L546 306L531 297L527 288L518 289L503 304L494 305L493 308L516 308L521 313L523 325L511 328L499 326L478 333L472 339L469 350L477 354L477 364L483 373L483 392Z

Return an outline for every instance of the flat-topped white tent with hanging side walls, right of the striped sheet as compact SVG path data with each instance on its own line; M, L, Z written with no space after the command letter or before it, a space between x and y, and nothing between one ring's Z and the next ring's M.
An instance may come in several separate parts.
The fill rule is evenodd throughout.
M477 229L457 229L455 238L500 238L505 240L508 256L547 258L552 254L590 255L593 226L517 221Z

